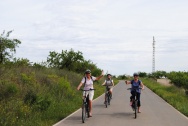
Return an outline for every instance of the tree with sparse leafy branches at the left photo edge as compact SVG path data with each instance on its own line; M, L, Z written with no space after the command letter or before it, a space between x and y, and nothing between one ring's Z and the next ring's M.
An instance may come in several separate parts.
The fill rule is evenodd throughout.
M0 64L4 64L13 58L13 54L16 53L16 47L18 47L18 44L21 44L20 40L9 38L11 33L12 31L7 33L3 31L0 35Z

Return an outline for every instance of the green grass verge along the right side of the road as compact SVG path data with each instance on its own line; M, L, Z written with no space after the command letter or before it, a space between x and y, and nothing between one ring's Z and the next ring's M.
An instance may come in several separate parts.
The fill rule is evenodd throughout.
M185 95L183 90L175 87L174 85L161 85L152 79L142 78L142 81L144 85L188 117L188 97Z

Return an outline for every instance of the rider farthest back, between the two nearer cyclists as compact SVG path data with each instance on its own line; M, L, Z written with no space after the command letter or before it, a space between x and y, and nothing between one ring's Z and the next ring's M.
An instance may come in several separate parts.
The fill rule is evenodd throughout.
M112 77L111 74L107 74L107 79L104 81L104 83L102 85L106 86L106 91L109 90L109 92L111 94L111 98L112 98L112 90L113 90L113 87L114 87L114 82L113 82L111 77ZM106 95L105 95L104 99L106 99ZM105 102L106 101L104 101L104 104L105 104Z

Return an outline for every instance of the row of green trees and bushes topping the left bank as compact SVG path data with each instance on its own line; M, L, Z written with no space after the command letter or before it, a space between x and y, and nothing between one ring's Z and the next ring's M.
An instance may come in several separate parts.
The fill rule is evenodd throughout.
M101 69L91 60L86 60L83 53L80 51L62 50L60 53L50 51L47 60L41 63L32 63L27 58L15 58L16 48L19 47L21 41L18 39L11 39L10 34L13 31L8 31L0 35L0 64L10 66L13 64L24 66L38 66L47 68L66 69L76 73L84 73L86 69L90 69L93 75L99 75Z

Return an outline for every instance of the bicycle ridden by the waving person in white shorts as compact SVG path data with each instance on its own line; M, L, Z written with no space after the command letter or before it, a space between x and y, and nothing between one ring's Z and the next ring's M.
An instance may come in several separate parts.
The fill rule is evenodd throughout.
M89 89L89 90L81 89L81 91L84 91L85 93L85 97L82 102L82 122L83 123L85 123L86 116L89 118L89 94L86 96L86 92L91 91L91 90L95 90L95 89Z

